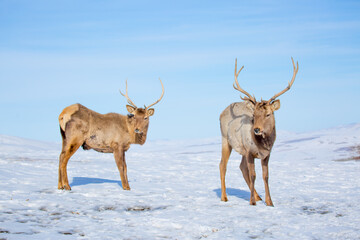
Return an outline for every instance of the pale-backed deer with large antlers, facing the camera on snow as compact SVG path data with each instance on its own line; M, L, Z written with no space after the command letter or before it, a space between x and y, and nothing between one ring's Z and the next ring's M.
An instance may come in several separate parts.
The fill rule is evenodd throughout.
M243 90L237 80L241 69L237 72L237 60L235 60L234 88L247 97L241 97L243 102L230 104L220 115L220 128L222 135L222 154L220 162L221 200L227 201L225 174L232 149L242 155L240 169L250 189L250 204L256 205L261 198L256 192L254 159L261 159L263 180L265 184L265 203L274 206L269 191L269 158L276 138L274 111L280 108L280 101L276 100L280 95L288 91L294 83L299 64L291 58L294 74L288 86L270 100L257 102L255 97Z

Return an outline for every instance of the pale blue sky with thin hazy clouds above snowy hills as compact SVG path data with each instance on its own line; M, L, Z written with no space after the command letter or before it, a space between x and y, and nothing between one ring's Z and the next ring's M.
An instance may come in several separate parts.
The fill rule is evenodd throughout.
M360 122L359 1L0 0L0 134L60 142L58 115L154 106L148 140L220 136L219 115L280 96L278 130Z

